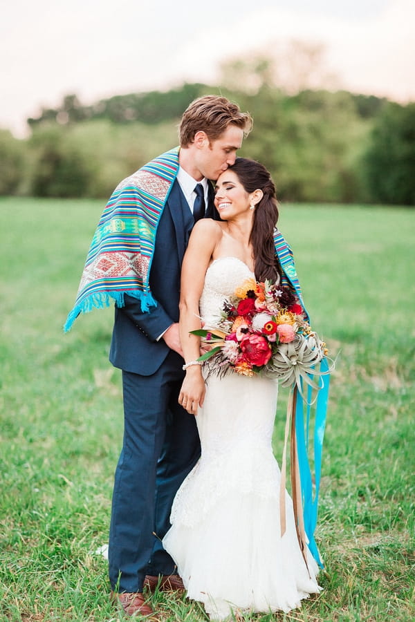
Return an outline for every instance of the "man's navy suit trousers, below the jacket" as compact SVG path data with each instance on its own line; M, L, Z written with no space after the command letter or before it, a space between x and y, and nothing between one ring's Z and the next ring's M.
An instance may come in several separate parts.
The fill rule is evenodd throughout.
M194 415L178 404L182 365L170 350L153 375L122 372L124 442L109 538L109 578L119 592L142 592L146 574L176 572L161 539L174 495L201 453Z

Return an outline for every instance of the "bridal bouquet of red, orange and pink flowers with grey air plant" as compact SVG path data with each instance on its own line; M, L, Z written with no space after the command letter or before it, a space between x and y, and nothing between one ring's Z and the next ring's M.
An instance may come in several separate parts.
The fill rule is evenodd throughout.
M291 288L247 279L225 300L214 328L192 333L211 346L199 357L208 373L261 373L298 387L302 377L318 388L312 377L326 344L311 330Z

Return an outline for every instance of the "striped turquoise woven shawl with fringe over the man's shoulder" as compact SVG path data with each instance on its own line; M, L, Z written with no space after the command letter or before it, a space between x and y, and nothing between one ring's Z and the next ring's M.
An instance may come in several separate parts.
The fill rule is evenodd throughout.
M102 212L73 310L64 330L80 313L104 308L124 294L137 298L143 311L156 305L149 288L149 271L160 216L178 171L178 147L163 153L124 179Z

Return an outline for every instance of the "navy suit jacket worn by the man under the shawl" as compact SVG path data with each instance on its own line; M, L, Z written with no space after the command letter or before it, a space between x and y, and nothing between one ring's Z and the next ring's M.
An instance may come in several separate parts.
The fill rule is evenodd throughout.
M206 217L219 219L209 189ZM116 306L109 352L113 366L144 376L154 374L167 357L164 339L156 341L172 323L178 322L181 264L194 225L192 211L175 180L158 223L149 284L156 307L142 312L140 302L125 295L124 307Z

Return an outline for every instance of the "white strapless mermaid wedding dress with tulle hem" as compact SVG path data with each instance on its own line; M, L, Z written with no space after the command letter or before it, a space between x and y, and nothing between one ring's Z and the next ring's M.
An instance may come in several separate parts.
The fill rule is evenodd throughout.
M216 323L223 298L250 276L237 258L210 265L200 303L206 328ZM270 379L211 375L196 416L201 459L178 490L163 545L187 596L212 620L231 609L287 612L320 592L317 564L308 554L308 576L299 549L288 493L280 536L280 471L271 448L277 393Z

